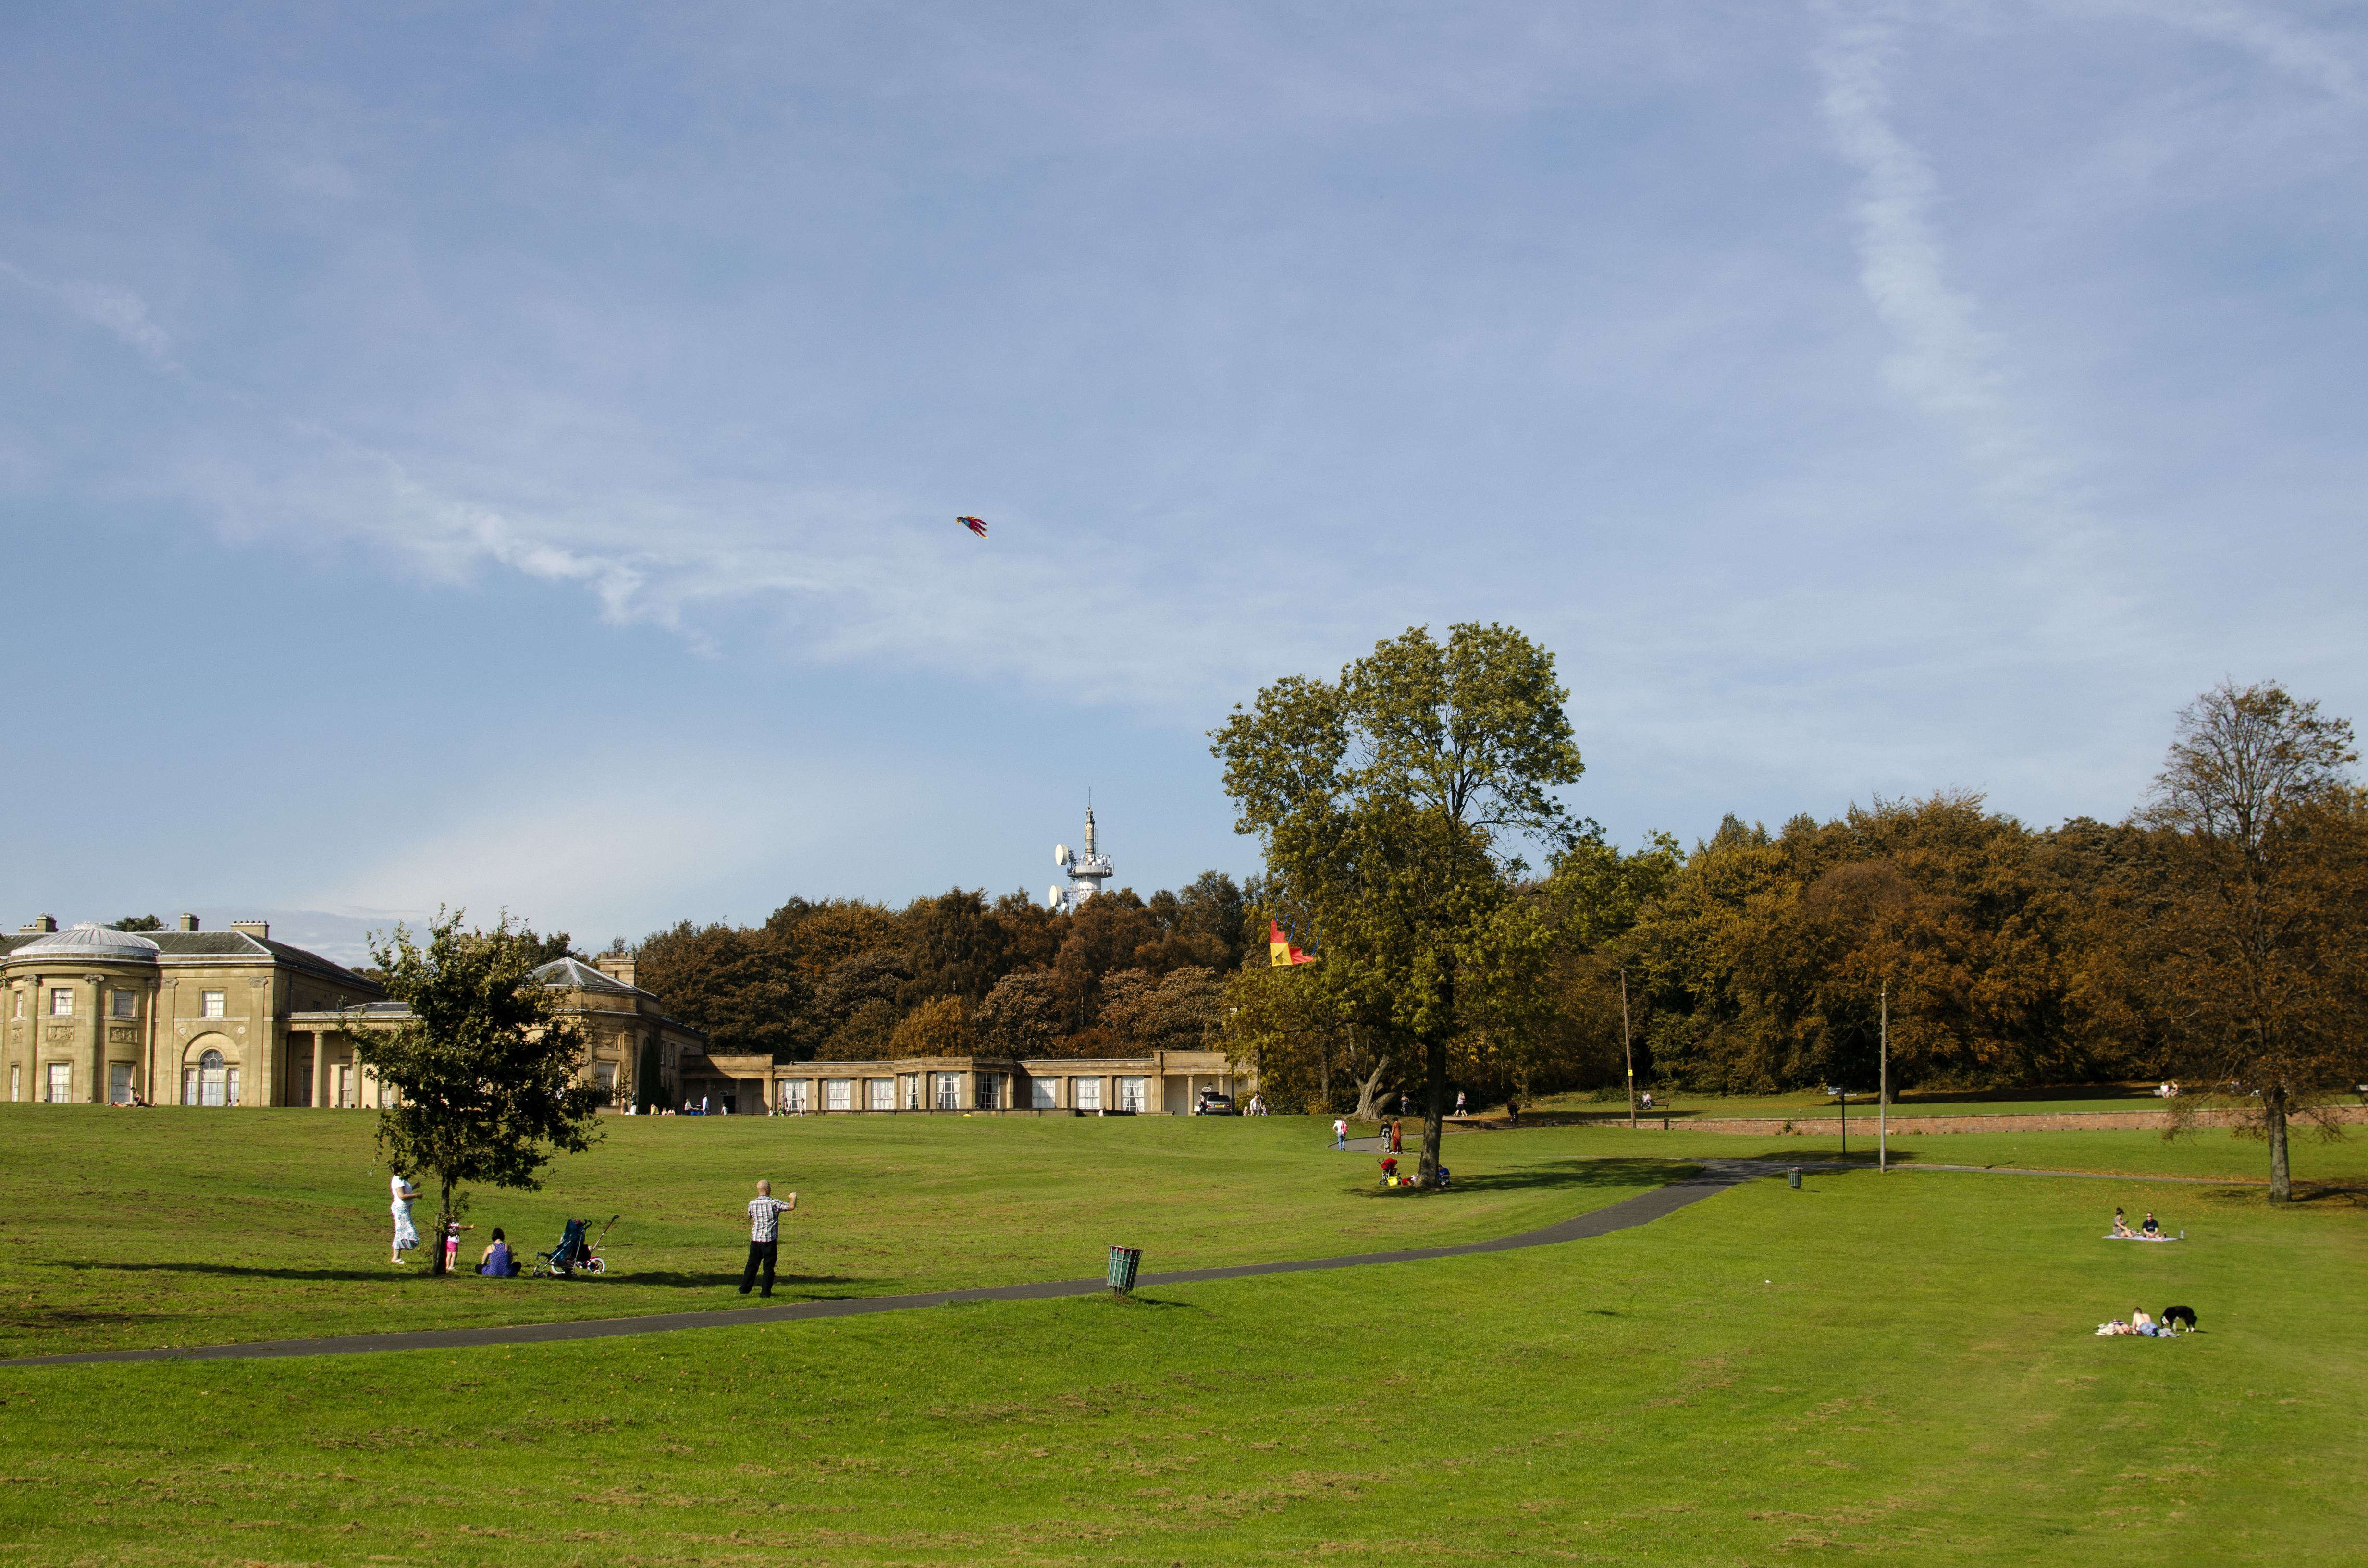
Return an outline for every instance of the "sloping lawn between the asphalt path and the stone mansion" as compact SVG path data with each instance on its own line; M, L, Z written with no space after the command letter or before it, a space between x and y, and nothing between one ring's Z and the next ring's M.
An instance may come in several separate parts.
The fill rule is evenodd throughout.
M1328 1258L1534 1229L1669 1180L1662 1149L1471 1137L1407 1201L1305 1118L616 1118L540 1194L481 1191L464 1260L625 1217L601 1279L429 1279L386 1260L367 1113L0 1106L0 1355L201 1345L741 1305L744 1206L798 1189L777 1298L895 1296ZM1589 1151L1601 1156L1603 1151ZM429 1232L431 1203L419 1203ZM597 1225L594 1225L597 1232ZM753 1303L753 1298L748 1298Z

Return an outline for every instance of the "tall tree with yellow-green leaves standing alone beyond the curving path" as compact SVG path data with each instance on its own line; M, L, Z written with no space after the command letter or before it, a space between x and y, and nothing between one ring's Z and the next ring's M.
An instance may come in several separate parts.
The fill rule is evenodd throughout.
M1525 841L1563 848L1553 789L1579 777L1553 656L1504 625L1409 628L1340 670L1257 692L1210 732L1276 893L1307 907L1331 1009L1411 1045L1423 1158L1440 1161L1447 1059L1468 1030L1542 1018L1553 931L1516 883Z

